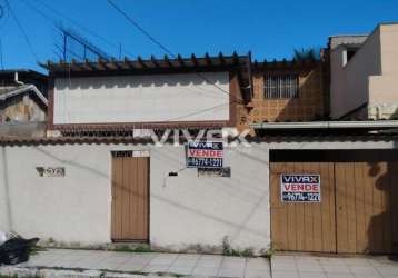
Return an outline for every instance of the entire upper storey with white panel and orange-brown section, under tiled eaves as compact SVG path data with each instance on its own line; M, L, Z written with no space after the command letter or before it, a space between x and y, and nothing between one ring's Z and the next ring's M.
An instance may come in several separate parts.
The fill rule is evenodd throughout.
M252 122L312 121L325 118L327 113L328 91L324 85L327 73L321 61L251 63L250 53L242 57L223 57L221 53L212 58L192 56L175 60L86 61L74 62L70 69L67 67L63 63L46 64L51 75L50 83L53 83L50 88L49 129L64 135L70 135L71 130L98 133L118 128L136 130L136 133L141 129L178 127L237 128L242 131ZM118 75L125 78L110 78ZM98 76L112 83L99 82ZM171 76L175 78L169 81ZM185 81L179 81L179 78ZM220 78L223 78L223 83ZM212 81L215 83L209 85ZM98 88L91 88L93 83ZM195 90L197 93L190 93ZM128 95L122 95L122 91ZM149 97L140 98L142 93L150 96L149 91L156 91L156 101ZM181 93L183 98L180 98ZM130 103L126 103L130 95L133 97ZM94 101L84 100L92 96ZM98 119L84 119L78 111L93 109L87 103L96 106ZM192 103L196 105L192 107ZM128 111L120 111L120 107ZM100 112L101 109L105 112Z

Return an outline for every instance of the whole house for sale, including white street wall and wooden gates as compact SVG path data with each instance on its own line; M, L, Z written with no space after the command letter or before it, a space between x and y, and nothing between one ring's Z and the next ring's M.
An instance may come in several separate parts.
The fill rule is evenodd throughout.
M50 136L0 140L0 229L64 246L397 254L398 122L328 120L331 54L48 62Z

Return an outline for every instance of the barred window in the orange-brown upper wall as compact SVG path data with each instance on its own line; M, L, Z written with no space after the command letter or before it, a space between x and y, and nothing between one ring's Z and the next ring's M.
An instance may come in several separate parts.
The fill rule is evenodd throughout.
M297 75L266 75L263 79L266 99L298 98L299 82Z

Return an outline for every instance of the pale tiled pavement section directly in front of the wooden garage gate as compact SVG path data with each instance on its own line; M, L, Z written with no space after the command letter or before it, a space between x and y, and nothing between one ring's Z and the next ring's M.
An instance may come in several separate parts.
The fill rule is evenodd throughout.
M387 257L334 258L273 256L272 278L397 278L398 262Z

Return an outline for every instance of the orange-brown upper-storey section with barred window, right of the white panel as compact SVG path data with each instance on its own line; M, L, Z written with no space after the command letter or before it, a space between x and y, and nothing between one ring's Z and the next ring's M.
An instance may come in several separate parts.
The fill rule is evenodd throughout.
M255 122L325 119L324 75L321 61L255 62L253 98L239 106L240 129Z

